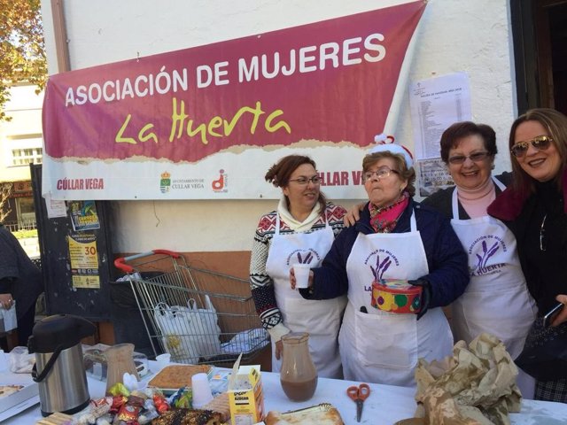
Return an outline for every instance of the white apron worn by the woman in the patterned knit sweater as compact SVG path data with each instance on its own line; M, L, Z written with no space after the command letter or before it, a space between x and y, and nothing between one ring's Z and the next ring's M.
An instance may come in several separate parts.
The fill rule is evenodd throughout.
M280 218L276 217L276 233L268 253L266 272L274 280L276 303L283 325L293 332L309 333L309 352L319 376L342 378L338 355L338 329L345 310L346 296L307 300L298 290L291 290L290 268L299 262L321 266L335 236L327 221L322 230L311 233L280 235ZM276 343L272 342L272 371L279 372L282 359L276 359Z

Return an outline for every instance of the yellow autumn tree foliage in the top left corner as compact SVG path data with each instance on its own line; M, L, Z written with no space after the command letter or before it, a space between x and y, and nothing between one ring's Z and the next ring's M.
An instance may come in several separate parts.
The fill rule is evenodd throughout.
M0 0L0 120L10 87L35 84L39 93L47 81L40 0Z

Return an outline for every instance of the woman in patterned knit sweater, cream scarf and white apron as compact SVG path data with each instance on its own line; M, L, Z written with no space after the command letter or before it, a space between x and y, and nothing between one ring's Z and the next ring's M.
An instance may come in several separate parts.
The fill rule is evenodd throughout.
M320 376L342 378L338 329L346 297L323 303L307 301L290 290L290 268L296 263L318 267L343 228L346 210L327 202L315 161L290 155L266 173L282 189L277 210L260 218L252 244L252 297L272 340L272 371L281 368L281 337L308 332L309 351Z

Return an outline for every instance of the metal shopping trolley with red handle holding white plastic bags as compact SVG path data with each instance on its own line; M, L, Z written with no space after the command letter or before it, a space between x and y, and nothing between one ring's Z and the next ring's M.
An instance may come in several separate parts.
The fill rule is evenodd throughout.
M154 250L116 259L126 273L154 355L178 363L252 359L268 345L248 281L190 267L183 255Z

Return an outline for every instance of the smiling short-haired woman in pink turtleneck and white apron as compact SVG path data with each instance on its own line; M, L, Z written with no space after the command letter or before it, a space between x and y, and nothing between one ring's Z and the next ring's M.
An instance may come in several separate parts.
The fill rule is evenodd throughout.
M451 305L454 340L469 344L487 332L501 339L516 359L537 308L525 284L516 237L501 220L486 213L510 177L492 175L496 134L485 124L457 122L443 132L440 144L454 187L439 190L423 205L439 209L451 220L469 255L469 286ZM518 384L524 398L533 397L530 376L520 375Z

